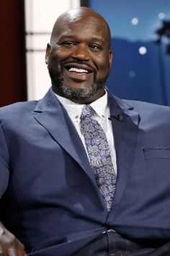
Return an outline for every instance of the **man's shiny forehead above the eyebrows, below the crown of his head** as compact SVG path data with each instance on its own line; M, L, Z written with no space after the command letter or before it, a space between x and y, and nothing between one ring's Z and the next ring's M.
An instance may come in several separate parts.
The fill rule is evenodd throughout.
M109 41L109 29L100 17L91 15L69 15L55 23L53 37L76 36L81 38L99 38Z

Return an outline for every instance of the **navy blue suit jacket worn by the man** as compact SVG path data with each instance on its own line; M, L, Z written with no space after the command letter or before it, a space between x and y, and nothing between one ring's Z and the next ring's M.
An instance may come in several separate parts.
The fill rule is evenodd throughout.
M71 255L110 228L128 239L170 239L170 108L110 93L108 101L117 153L109 214L52 89L0 109L0 218L29 255Z

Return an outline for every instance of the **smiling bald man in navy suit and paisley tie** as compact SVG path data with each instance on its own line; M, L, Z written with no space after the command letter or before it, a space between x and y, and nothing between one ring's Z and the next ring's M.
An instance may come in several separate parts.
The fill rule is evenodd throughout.
M91 9L58 17L45 61L45 97L0 110L0 255L170 255L169 107L104 88Z

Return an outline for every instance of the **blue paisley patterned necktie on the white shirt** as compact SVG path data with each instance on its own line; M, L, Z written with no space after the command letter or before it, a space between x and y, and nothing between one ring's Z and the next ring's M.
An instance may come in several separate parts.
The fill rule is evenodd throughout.
M115 194L116 174L112 165L107 137L94 119L94 110L85 105L81 112L81 133L84 135L89 162L109 211Z

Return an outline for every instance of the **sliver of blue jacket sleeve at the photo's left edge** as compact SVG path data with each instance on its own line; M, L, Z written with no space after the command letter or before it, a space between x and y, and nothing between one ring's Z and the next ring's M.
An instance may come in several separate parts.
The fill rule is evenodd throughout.
M4 194L9 182L9 152L0 125L0 198Z

